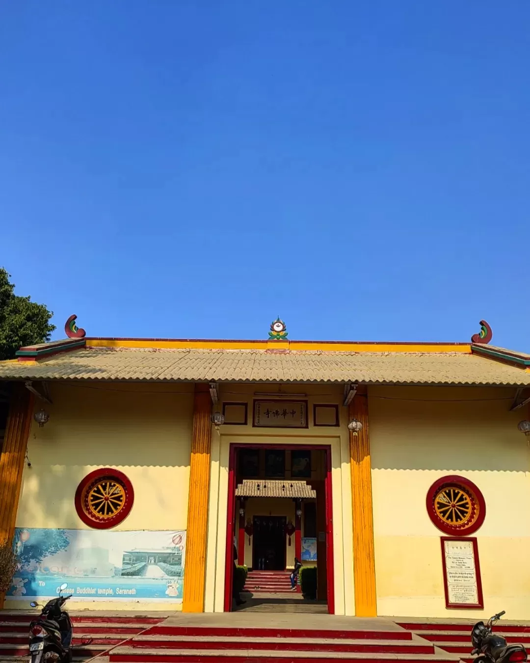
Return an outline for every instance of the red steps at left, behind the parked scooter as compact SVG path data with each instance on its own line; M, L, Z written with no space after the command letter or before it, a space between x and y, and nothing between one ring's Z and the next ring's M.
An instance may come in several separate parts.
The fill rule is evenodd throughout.
M0 613L0 660L21 661L29 656L29 623L38 617L37 613ZM117 644L127 642L135 635L164 621L160 617L95 617L73 615L74 660L86 660L108 652Z

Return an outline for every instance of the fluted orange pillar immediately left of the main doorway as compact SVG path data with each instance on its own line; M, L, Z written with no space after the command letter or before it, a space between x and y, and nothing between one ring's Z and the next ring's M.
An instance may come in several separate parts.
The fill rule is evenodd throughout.
M204 611L206 540L211 456L211 398L208 385L195 385L189 465L186 558L182 611Z

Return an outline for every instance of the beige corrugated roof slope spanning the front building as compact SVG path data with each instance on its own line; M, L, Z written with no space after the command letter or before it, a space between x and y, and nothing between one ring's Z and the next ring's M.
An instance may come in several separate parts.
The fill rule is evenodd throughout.
M530 385L530 371L462 352L72 350L0 363L0 379Z

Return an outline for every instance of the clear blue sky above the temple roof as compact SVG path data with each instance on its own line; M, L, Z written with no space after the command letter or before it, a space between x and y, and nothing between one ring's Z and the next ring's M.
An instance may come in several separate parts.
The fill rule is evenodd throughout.
M0 8L0 265L89 335L530 351L530 3Z

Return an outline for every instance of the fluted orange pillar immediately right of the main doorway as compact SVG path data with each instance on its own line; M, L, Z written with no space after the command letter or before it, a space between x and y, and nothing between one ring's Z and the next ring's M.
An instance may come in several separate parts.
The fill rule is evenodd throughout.
M376 617L372 463L366 391L356 394L350 403L348 414L350 420L354 417L362 424L362 429L357 435L350 431L355 615L357 617Z

